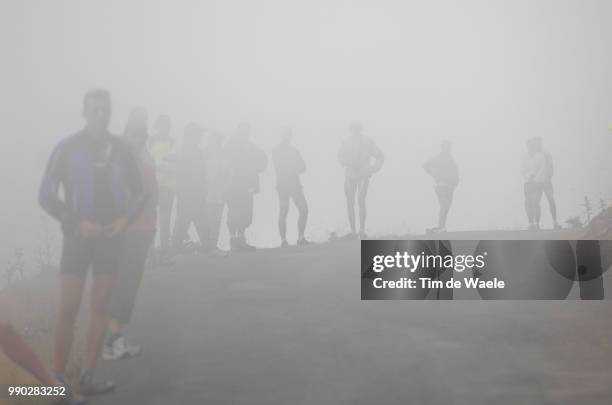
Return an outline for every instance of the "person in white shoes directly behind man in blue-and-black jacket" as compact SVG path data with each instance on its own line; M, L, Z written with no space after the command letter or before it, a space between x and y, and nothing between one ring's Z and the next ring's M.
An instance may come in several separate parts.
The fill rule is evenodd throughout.
M131 345L127 341L125 330L132 318L138 288L157 226L157 180L155 163L147 150L149 136L147 121L148 115L145 110L134 109L123 133L123 140L132 149L138 162L145 205L125 232L119 260L119 274L113 287L108 337L102 354L105 360L134 357L140 353L140 347Z

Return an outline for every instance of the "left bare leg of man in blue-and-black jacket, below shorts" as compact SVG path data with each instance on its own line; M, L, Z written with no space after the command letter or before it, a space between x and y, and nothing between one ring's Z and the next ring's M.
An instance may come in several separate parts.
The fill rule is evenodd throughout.
M81 306L86 273L59 274L59 310L55 320L53 370L63 376L74 339L74 323Z

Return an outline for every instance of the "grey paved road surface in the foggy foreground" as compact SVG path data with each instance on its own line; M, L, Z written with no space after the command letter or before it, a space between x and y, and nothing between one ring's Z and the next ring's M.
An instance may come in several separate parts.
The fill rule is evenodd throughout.
M343 241L150 271L94 403L610 404L612 302L362 302L359 269Z

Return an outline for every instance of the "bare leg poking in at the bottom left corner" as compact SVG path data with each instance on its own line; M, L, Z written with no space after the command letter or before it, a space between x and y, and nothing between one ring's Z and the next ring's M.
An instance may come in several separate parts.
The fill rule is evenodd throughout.
M13 325L4 321L0 321L0 349L41 384L51 386L58 383L36 353L19 336Z

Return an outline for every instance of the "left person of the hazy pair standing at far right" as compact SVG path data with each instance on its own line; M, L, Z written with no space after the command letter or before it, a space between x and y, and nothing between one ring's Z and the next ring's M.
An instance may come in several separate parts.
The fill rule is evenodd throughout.
M529 221L529 229L540 229L542 211L540 202L545 185L550 181L551 169L547 157L542 153L541 143L536 138L527 141L527 154L523 157L521 171L525 190L525 212ZM552 184L551 184L552 187Z

